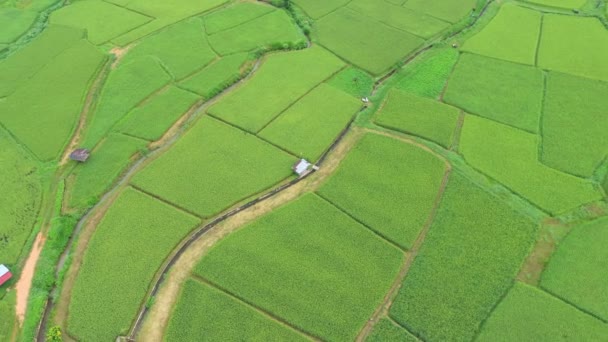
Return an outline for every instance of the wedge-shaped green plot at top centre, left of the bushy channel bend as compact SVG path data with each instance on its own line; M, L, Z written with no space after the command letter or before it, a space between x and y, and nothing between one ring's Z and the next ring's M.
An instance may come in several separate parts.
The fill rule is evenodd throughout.
M251 51L265 46L305 45L306 38L285 11L275 10L225 31L209 35L220 55Z

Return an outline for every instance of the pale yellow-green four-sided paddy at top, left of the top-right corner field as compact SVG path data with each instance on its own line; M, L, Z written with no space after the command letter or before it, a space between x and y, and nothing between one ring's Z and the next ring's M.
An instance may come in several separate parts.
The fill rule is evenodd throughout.
M535 65L541 18L538 11L505 4L481 32L464 43L462 50Z

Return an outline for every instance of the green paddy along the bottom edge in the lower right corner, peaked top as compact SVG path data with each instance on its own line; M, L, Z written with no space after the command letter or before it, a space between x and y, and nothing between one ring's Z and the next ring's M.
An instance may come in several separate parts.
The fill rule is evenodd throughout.
M477 341L603 341L608 325L521 283L509 291Z

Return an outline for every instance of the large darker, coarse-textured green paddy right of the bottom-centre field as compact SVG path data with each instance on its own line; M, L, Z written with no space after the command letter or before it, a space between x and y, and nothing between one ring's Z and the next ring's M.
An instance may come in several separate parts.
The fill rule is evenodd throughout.
M536 226L453 172L390 315L425 341L472 340L508 291Z

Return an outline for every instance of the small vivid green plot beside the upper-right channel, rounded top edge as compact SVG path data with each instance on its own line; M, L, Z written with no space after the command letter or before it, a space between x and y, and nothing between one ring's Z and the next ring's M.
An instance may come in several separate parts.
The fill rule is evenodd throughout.
M419 96L439 98L458 61L458 51L444 47L422 56L419 62L399 70L401 80L395 87Z

